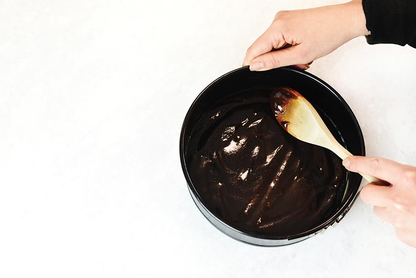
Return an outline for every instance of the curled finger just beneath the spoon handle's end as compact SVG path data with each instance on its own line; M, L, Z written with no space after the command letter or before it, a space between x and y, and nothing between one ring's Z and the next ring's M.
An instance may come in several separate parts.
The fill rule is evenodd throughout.
M361 200L369 205L388 207L392 205L392 187L380 187L369 183L360 192Z

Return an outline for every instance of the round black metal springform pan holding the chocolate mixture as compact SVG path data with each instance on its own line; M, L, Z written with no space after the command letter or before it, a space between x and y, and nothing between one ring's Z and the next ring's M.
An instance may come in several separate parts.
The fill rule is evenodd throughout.
M182 170L189 192L199 210L207 220L225 234L242 242L261 246L291 244L325 231L329 226L339 222L345 213L348 212L358 196L358 189L361 183L361 176L350 172L345 197L340 208L333 213L333 216L313 229L285 237L259 236L239 231L218 219L214 213L207 209L204 200L201 199L192 184L185 161L187 144L195 123L211 106L235 92L256 87L274 89L280 86L292 87L301 92L321 114L335 138L344 147L354 155L365 155L363 135L358 121L348 104L346 104L337 91L318 77L292 67L263 72L251 72L248 67L244 67L221 76L208 85L192 103L183 122L180 136Z

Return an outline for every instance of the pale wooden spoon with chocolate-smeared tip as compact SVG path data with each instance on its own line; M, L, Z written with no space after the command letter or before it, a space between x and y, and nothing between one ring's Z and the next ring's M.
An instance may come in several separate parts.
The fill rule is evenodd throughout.
M296 90L288 87L275 89L270 95L270 104L279 124L292 136L332 150L342 160L352 156L336 141L315 108ZM370 175L360 175L369 182L388 184Z

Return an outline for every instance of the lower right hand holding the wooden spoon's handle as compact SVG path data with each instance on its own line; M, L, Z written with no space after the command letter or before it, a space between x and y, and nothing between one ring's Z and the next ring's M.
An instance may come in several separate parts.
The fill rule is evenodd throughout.
M349 157L342 164L353 172L369 174L391 186L367 184L360 193L382 220L393 224L397 238L416 248L416 167L371 157Z

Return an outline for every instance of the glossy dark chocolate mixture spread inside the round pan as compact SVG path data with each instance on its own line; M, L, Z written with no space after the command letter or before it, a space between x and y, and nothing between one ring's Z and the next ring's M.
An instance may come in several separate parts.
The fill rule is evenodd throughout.
M288 236L316 227L339 208L346 170L331 151L279 125L271 91L238 92L205 112L186 160L196 191L216 217L251 234Z

